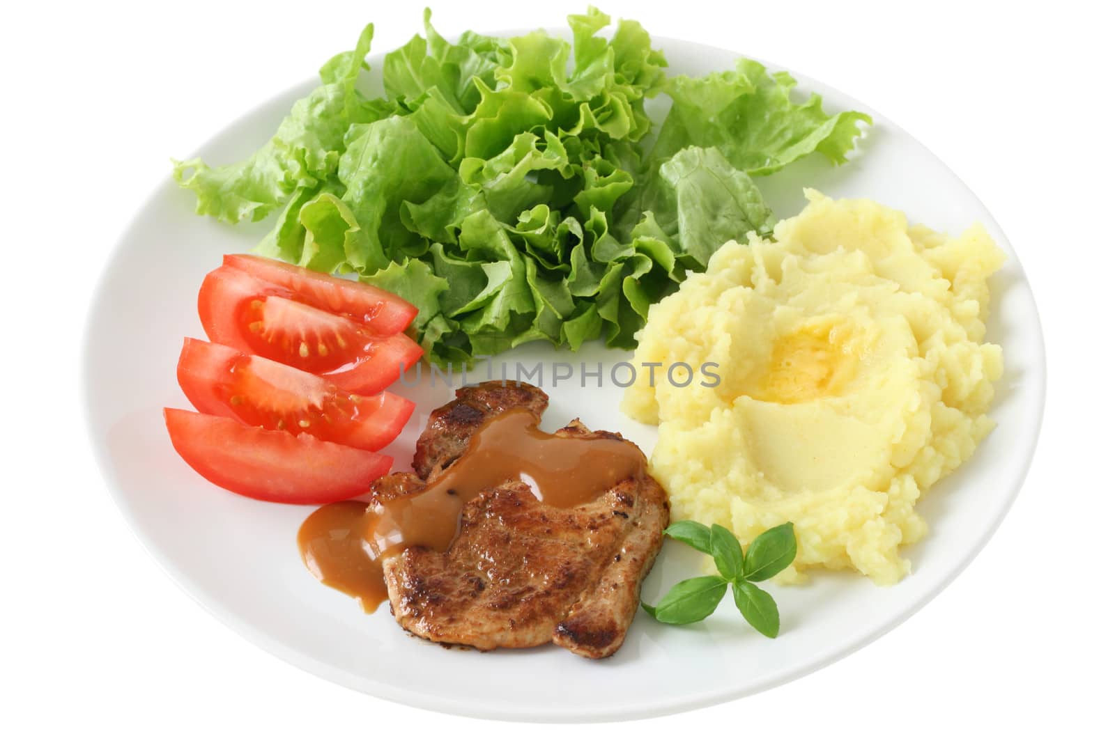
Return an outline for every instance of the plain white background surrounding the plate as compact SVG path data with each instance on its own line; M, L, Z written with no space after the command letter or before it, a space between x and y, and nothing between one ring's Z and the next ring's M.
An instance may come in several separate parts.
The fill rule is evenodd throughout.
M571 729L456 718L269 656L181 593L113 506L78 400L85 309L116 236L168 177L169 156L312 75L367 20L375 49L398 46L419 29L421 4L21 3L0 28L0 737L1111 733L1115 57L1102 4L601 2L651 33L733 48L843 89L937 153L996 215L1038 299L1049 393L1029 478L988 547L928 607L853 656L659 720ZM583 10L430 4L445 33L560 26Z

